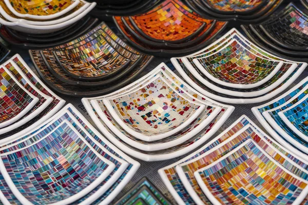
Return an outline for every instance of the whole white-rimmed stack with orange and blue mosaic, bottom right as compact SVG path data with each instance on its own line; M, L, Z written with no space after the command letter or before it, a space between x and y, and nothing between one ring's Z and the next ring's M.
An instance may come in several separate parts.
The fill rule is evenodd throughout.
M293 150L243 115L159 174L178 204L306 204L308 161Z

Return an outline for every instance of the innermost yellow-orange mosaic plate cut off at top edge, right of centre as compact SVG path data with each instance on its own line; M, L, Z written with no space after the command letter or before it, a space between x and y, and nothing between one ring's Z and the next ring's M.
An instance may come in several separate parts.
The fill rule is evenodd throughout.
M204 6L208 9L224 14L238 14L238 15L249 15L258 12L263 6L266 5L267 1L262 0L201 0Z

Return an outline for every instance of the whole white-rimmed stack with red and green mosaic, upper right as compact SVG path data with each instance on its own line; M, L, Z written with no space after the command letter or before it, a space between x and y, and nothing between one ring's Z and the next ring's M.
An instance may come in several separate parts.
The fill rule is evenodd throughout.
M205 49L171 58L171 62L196 90L233 104L272 98L290 86L307 66L262 50L236 29Z

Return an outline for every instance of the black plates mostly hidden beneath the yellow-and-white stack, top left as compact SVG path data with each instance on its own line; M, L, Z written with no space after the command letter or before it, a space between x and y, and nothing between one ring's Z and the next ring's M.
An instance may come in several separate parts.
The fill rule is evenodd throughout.
M84 35L97 25L97 18L85 16L78 22L63 30L48 34L29 34L2 26L0 28L0 36L14 47L48 48L70 42L71 40Z

